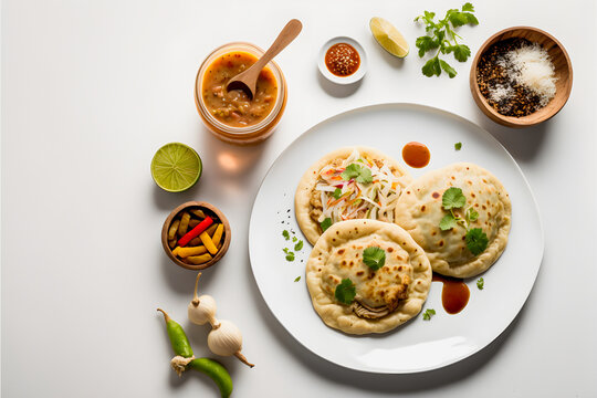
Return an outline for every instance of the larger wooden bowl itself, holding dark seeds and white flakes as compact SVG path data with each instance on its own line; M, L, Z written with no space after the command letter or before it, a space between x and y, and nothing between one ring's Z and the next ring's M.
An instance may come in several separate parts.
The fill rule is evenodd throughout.
M493 44L511 38L522 38L533 43L541 44L549 54L552 63L555 67L554 72L557 77L557 81L555 82L556 94L552 101L549 101L549 103L543 108L532 113L531 115L522 117L504 116L498 113L498 111L488 104L485 97L479 90L479 85L476 84L476 66L481 55ZM555 116L555 114L562 109L570 96L572 82L572 63L564 46L549 33L531 27L507 28L489 38L476 52L476 55L472 62L470 75L471 93L479 108L481 108L481 111L493 122L500 123L507 127L534 126Z

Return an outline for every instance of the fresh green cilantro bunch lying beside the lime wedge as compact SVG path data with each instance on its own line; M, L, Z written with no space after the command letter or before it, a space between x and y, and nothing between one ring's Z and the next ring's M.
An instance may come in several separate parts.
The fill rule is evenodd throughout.
M471 49L465 44L458 43L458 39L462 38L454 32L454 29L464 24L475 25L479 24L479 20L472 13L474 12L473 6L468 2L462 6L461 10L451 9L446 12L446 17L442 20L436 22L434 12L425 11L422 15L415 18L415 22L422 21L426 27L425 30L428 34L417 38L415 45L419 49L419 56L422 57L428 51L438 49L436 56L427 61L422 67L423 75L431 77L433 75L439 76L443 70L448 73L450 78L457 75L457 71L448 64L448 62L440 60L439 54L453 53L454 57L464 62L471 55ZM431 35L429 35L429 33Z

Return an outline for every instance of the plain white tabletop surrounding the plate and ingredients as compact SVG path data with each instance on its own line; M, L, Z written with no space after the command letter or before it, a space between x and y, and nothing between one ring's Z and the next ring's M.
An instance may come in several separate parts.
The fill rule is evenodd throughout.
M479 27L460 28L476 52L494 32L533 25L568 50L574 87L564 109L535 128L490 122L458 76L422 76L416 51L385 53L370 17L391 21L413 46L423 10L452 1L3 1L1 10L1 366L3 397L210 397L200 374L169 369L168 310L207 356L208 328L189 325L195 273L163 252L169 211L187 200L218 206L233 229L226 258L201 287L218 315L243 332L249 369L223 358L237 397L594 397L597 223L594 1L475 1ZM304 28L276 61L289 82L282 122L264 144L213 138L192 100L195 75L216 46L243 40L266 48L291 18ZM364 45L369 71L337 90L316 70L335 35ZM545 256L513 324L476 355L416 375L347 370L306 352L263 302L248 260L248 227L259 184L276 156L324 118L364 105L410 102L453 112L486 128L514 156L533 188ZM396 126L400 128L400 126ZM156 149L182 142L205 171L184 193L155 186ZM303 167L303 166L300 166ZM524 264L521 264L524 266ZM516 277L516 275L512 275ZM509 286L502 286L509 294ZM483 325L479 325L483 327Z

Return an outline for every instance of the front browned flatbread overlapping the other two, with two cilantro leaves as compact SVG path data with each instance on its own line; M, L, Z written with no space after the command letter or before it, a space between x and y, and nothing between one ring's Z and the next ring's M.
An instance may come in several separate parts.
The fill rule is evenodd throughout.
M366 248L384 250L381 268L363 261ZM352 304L335 298L336 286L349 279ZM417 315L431 286L431 266L423 250L400 227L377 220L333 224L317 240L306 265L313 307L331 327L350 334L384 333Z

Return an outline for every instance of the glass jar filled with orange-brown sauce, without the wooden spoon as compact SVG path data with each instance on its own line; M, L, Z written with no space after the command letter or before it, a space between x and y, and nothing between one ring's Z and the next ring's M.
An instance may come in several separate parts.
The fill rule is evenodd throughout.
M195 103L206 127L216 137L238 145L268 138L286 106L286 81L271 61L261 71L254 97L238 90L228 92L228 81L249 69L264 51L244 42L224 44L203 61L197 72Z

